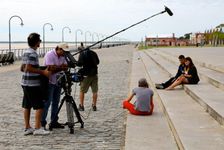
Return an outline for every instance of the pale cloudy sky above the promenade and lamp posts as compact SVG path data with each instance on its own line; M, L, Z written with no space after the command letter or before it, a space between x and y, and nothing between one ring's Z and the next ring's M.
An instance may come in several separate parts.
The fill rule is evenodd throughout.
M26 41L31 32L43 37L43 25L46 25L45 40L98 40L112 35L134 23L157 14L169 7L173 16L167 13L155 16L132 27L110 40L140 41L145 36L183 36L190 32L204 32L224 23L223 0L0 0L0 41L9 39L9 18L12 41ZM81 32L78 31L80 29ZM91 33L91 35L89 34Z

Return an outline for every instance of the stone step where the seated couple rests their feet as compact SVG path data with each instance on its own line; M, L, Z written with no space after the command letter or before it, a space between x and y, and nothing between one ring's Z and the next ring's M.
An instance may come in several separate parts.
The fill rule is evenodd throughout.
M167 80L168 74L148 54L140 52L151 81ZM148 52L151 55L151 52ZM152 54L153 55L153 54ZM179 149L223 150L224 129L184 90L157 90L162 108Z

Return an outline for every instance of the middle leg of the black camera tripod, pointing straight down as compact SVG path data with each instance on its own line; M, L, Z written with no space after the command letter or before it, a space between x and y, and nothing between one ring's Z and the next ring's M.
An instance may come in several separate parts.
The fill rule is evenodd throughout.
M70 128L70 134L74 134L74 115L72 110L72 104L70 100L66 101L67 119L68 127Z

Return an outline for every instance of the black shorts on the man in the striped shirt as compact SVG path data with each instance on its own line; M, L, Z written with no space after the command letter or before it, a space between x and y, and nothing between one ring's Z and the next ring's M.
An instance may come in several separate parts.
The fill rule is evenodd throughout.
M33 108L34 110L44 108L44 101L40 86L22 86L22 88L24 93L22 103L23 108Z

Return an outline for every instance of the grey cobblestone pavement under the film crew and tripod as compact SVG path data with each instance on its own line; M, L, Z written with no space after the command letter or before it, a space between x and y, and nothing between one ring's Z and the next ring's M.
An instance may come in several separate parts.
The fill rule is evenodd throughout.
M101 60L99 65L98 111L91 111L89 117L86 120L83 119L84 129L80 129L80 124L76 124L74 134L69 134L69 129L66 127L65 129L54 129L48 136L24 136L19 65L14 69L1 71L0 149L122 149L126 115L121 107L121 100L126 98L128 94L132 52L133 46L97 50ZM1 67L0 70L2 70ZM73 93L74 91L75 85L73 85ZM78 93L79 86L77 86L75 99L77 105ZM85 111L81 112L84 117L87 116L91 103L91 90L89 90L85 98ZM59 118L61 123L67 121L65 105ZM31 124L34 124L34 111L32 111Z

